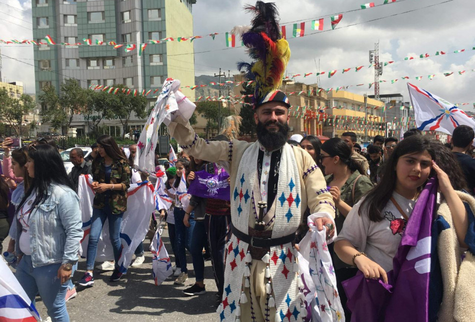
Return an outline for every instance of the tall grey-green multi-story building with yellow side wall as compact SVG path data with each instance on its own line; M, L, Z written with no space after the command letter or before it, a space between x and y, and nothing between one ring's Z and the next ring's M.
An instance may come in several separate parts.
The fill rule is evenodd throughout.
M139 91L159 88L167 77L180 79L183 84L194 83L190 41L148 44L138 55L140 43L149 39L193 34L194 3L196 0L32 0L34 39L44 43L44 37L49 35L57 44L72 44L34 47L36 96L44 86L58 89L68 78L77 79L83 88L90 84L123 84ZM91 45L83 39L90 39ZM114 49L107 44L109 41L135 44L136 49ZM97 42L104 44L96 45ZM179 59L171 58L177 54ZM183 88L183 92L194 100L193 91ZM150 106L154 100L148 98ZM129 126L141 127L143 122L132 115ZM71 127L78 134L87 133L86 124L83 115L74 115ZM103 120L101 125L110 126L114 135L120 124L111 119ZM42 130L50 129L44 124Z

